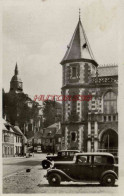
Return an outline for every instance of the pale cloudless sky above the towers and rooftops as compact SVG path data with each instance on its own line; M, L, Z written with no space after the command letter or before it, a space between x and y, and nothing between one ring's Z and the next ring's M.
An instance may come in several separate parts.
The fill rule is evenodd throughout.
M16 62L24 93L59 95L60 62L79 19L99 65L118 64L118 0L3 1L3 88Z

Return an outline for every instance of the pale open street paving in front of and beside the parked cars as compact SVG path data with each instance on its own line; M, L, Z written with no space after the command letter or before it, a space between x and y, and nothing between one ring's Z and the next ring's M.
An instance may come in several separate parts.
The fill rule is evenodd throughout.
M36 155L26 158L7 158L3 160L3 193L118 193L117 183L114 187L102 187L98 183L61 183L60 187L50 187L43 177L46 170L40 165L41 157ZM10 162L10 164L8 163ZM16 165L13 165L13 163ZM7 167L9 173L7 173ZM18 171L17 171L18 168ZM31 168L30 172L26 172ZM10 172L11 171L11 172Z

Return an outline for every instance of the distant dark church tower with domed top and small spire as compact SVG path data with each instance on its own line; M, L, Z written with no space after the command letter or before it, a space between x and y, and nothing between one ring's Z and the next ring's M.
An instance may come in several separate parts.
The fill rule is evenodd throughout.
M16 66L15 66L15 74L14 74L14 76L12 77L12 79L10 81L10 92L14 92L14 93L23 92L22 80L19 77L19 71L18 71L17 63L16 63Z

